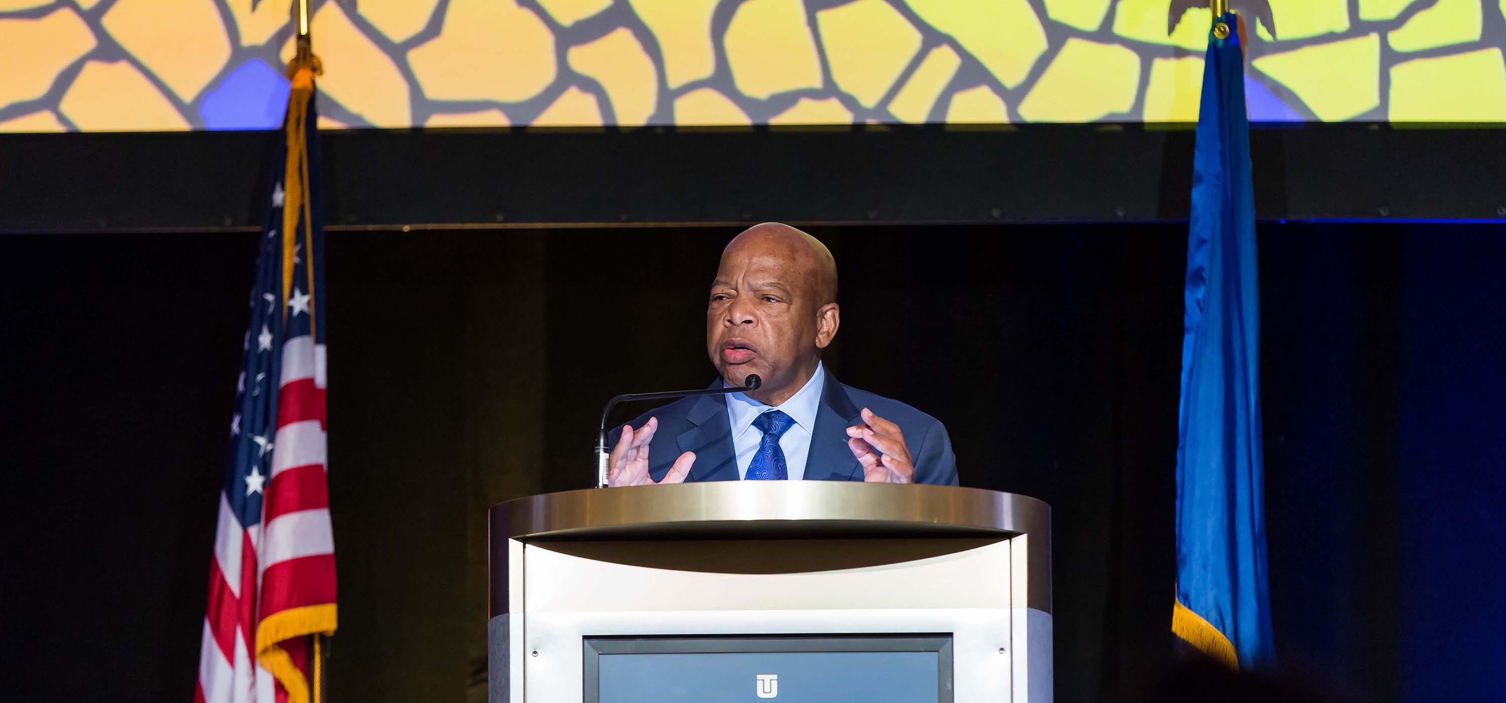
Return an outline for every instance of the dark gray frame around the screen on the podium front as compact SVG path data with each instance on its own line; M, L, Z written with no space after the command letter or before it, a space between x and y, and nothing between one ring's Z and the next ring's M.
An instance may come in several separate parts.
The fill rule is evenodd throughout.
M952 635L664 635L584 637L583 703L601 703L601 655L703 655L739 652L935 652L937 703L952 703Z

